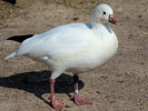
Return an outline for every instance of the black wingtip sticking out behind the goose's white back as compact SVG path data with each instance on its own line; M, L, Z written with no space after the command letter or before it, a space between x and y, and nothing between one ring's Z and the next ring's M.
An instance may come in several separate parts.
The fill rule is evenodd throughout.
M26 34L26 36L13 36L13 37L10 37L8 38L7 40L13 40L13 41L17 41L17 42L22 42L23 40L28 39L28 38L31 38L33 34Z

